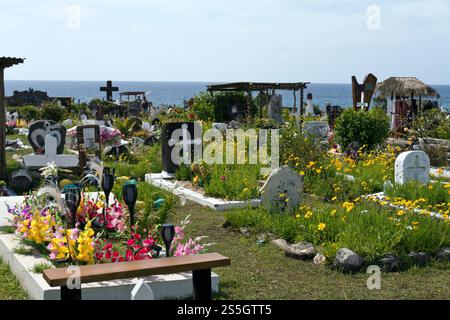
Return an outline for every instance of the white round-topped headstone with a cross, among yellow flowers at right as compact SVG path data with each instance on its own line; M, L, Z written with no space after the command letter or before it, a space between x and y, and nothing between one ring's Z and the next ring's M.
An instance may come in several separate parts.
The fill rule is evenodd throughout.
M395 183L411 180L430 182L430 158L423 151L403 152L395 160Z

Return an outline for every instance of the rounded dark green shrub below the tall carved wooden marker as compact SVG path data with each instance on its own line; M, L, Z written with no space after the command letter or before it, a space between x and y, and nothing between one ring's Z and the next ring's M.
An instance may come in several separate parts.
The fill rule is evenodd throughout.
M389 118L380 108L368 112L346 109L336 120L334 133L344 149L354 141L373 149L388 137Z

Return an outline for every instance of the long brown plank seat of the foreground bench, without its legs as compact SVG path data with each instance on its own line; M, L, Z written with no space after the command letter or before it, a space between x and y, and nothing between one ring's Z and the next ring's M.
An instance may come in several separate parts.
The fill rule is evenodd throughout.
M148 277L152 275L226 267L230 264L230 258L224 257L218 253L94 264L80 266L80 281L81 283L90 283L135 277ZM53 268L44 270L43 276L51 287L60 287L67 285L67 279L71 276L71 273L68 273L66 268Z

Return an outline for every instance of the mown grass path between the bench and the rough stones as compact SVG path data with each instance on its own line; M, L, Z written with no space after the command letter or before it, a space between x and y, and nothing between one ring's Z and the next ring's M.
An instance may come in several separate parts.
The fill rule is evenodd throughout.
M368 275L347 275L327 267L287 258L272 244L260 246L256 234L244 238L224 229L223 215L195 204L176 210L171 219L191 214L187 235L207 235L210 248L231 258L220 276L218 299L450 299L450 271L433 264L401 273L382 273L381 290L368 290Z

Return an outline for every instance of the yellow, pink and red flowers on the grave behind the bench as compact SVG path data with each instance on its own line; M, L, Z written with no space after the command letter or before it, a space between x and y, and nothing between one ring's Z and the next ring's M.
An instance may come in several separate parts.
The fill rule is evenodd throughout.
M39 193L38 193L39 194ZM48 195L32 195L10 208L16 234L25 244L39 249L55 263L96 264L153 259L162 249L160 225L128 226L128 212L117 199L105 207L103 194L82 194L75 228L66 223L64 202L49 201ZM64 213L64 214L63 214ZM189 216L175 226L171 256L203 253L211 244L204 237L185 240Z

